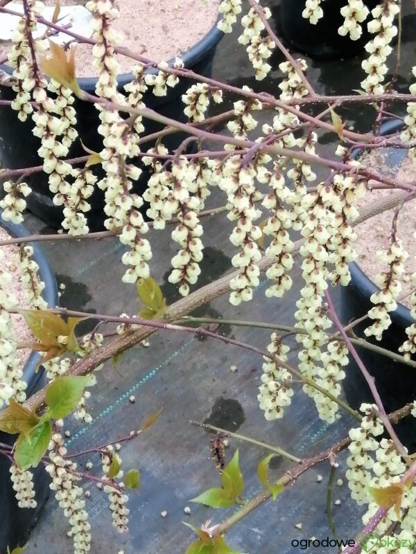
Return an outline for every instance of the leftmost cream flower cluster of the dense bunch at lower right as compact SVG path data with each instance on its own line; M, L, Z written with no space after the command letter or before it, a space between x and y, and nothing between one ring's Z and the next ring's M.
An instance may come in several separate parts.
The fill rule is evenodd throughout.
M350 429L349 438L352 442L348 447L349 456L347 465L349 469L345 473L351 496L358 504L368 503L370 493L370 470L374 467L374 460L369 452L379 448L379 443L374 437L383 434L383 425L377 417L374 404L361 404L360 410L365 414L360 427Z

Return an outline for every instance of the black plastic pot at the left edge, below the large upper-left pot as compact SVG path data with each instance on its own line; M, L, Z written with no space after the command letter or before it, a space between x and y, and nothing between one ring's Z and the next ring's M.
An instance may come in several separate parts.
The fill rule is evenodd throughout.
M15 237L26 237L30 235L23 226L3 222L0 225ZM33 244L33 259L39 265L40 279L44 281L45 288L43 296L49 306L58 305L58 289L55 276L49 265L44 252L38 244ZM42 368L36 373L36 365L40 360L39 352L33 351L24 368L24 380L28 384L27 395L32 395L46 384L46 375ZM0 433L0 443L12 445L15 436ZM10 481L10 461L5 456L0 456L0 553L6 553L9 546L10 551L15 546L22 546L28 539L28 535L36 524L40 510L49 497L49 476L42 465L33 470L33 483L35 485L37 507L34 509L19 508L15 492Z

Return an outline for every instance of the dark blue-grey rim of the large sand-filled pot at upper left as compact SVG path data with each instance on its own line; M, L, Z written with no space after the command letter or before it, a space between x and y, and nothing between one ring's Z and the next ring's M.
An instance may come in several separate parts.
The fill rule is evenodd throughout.
M184 63L185 68L192 67L196 65L200 60L202 60L202 57L205 56L205 53L207 51L211 50L211 48L214 48L220 42L220 39L223 38L223 31L218 29L218 21L220 21L221 17L219 16L218 19L216 19L216 22L214 25L209 29L207 34L200 39L196 44L191 46L189 50L184 51L181 55L179 55L180 59ZM173 64L175 63L175 57L171 58L171 60L168 60L168 65L173 67ZM3 71L6 71L6 73L12 73L12 68L7 64L0 64L0 69ZM155 67L149 67L146 69L146 73L149 74L156 74L157 69ZM117 82L119 87L124 87L125 84L128 84L135 78L135 75L133 73L120 73L117 77ZM91 91L95 90L96 82L98 80L98 77L79 77L77 78L78 84L80 85L80 88L85 91Z

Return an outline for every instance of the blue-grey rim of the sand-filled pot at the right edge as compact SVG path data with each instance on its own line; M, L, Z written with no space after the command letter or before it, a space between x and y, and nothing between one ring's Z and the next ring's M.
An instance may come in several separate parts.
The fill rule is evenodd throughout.
M404 123L400 119L387 121L386 123L383 123L383 125L381 125L380 135L383 136L386 134L390 134L401 129L401 127L403 126ZM357 148L352 152L352 158L357 158L361 154L361 152L363 152L363 149ZM370 298L370 296L374 294L374 292L379 292L379 287L377 287L367 276L367 274L365 274L365 272L363 271L363 269L361 269L357 262L349 262L348 266L349 272L351 274L352 285L360 289L364 296ZM403 327L408 327L408 325L411 325L415 321L415 319L410 314L409 308L401 303L397 303L397 308L394 312L390 312L390 317L392 321Z

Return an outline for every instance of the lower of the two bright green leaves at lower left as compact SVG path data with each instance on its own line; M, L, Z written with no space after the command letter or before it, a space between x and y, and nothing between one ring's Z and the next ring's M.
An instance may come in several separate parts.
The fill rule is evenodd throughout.
M15 462L19 467L37 467L44 456L49 440L51 440L52 425L50 421L41 422L27 436L19 435L15 443Z

